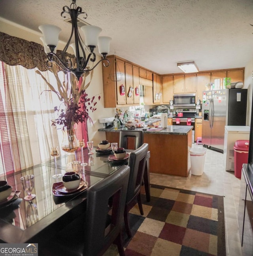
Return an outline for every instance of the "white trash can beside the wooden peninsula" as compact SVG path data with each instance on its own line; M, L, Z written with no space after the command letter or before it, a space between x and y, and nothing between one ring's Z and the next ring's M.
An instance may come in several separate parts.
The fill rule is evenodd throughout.
M204 172L206 148L192 147L190 149L190 157L191 157L191 174L202 175Z

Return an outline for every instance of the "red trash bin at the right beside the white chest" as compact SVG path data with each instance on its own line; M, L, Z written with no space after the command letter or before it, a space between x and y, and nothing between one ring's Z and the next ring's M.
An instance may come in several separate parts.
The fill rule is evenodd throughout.
M234 143L234 176L241 178L242 164L247 164L249 156L249 140L237 140Z

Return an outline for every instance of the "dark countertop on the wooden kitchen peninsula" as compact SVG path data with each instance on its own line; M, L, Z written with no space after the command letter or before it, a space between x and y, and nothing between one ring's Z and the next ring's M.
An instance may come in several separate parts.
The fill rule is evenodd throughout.
M154 129L154 128L152 128ZM136 128L135 130L141 130L144 133L151 133L151 134L176 134L176 135L187 135L192 129L193 126L190 125L169 125L167 128L157 128L158 130L143 130L143 128ZM162 129L162 130L160 130ZM115 130L113 128L100 128L98 132L120 132L121 130L126 130L124 126L121 126L120 129Z

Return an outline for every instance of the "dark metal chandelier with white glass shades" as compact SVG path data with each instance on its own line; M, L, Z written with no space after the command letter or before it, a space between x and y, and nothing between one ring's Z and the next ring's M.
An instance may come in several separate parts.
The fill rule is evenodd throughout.
M71 17L72 31L60 57L56 54L56 48L61 29L55 25L39 26L39 29L43 34L43 37L40 39L43 42L44 50L48 59L47 67L52 67L52 63L55 61L55 63L57 63L62 70L74 74L78 80L83 73L93 70L101 61L103 61L105 67L108 67L110 62L108 59L106 59L106 56L110 51L111 38L109 36L99 36L100 32L102 31L100 27L85 25L81 27L85 39L82 40L77 27L77 17L78 15L82 14L84 16L83 18L86 19L87 13L83 12L81 7L76 7L76 0L72 0L70 8L68 6L63 7L61 16L66 18L66 13ZM71 43L73 40L74 42ZM69 46L71 46L74 50L76 63L73 63L66 55ZM100 59L96 65L89 67L89 61L96 61L96 54L94 53L94 48L96 48L96 46L98 46L98 51L101 54L102 59ZM87 52L87 58L85 50Z

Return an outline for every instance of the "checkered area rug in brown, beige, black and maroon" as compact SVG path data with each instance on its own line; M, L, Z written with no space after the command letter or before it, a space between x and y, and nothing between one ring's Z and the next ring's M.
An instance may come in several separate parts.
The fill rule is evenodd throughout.
M130 210L126 256L226 255L223 197L151 184Z

